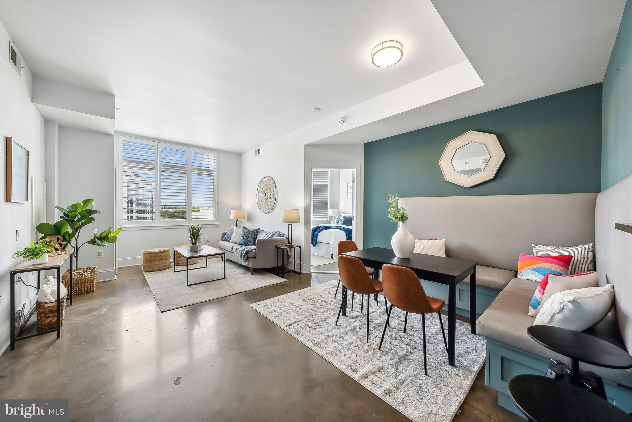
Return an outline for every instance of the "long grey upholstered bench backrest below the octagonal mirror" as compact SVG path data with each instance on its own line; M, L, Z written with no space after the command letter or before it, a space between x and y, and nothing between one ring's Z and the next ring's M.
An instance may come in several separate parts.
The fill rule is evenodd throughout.
M415 239L446 239L452 258L516 271L532 244L573 246L595 240L597 194L401 198ZM632 235L631 235L632 236Z

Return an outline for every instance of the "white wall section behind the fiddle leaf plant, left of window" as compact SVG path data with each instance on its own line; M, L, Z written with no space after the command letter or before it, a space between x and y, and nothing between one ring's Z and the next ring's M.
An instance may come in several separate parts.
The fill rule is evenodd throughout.
M108 227L114 227L114 135L92 130L59 126L58 205L83 199L94 199L94 208L100 211L96 221L85 227L79 239L82 244ZM103 257L97 258L97 251ZM79 250L79 266L97 267L97 281L116 278L114 271L114 245L105 247L83 245Z

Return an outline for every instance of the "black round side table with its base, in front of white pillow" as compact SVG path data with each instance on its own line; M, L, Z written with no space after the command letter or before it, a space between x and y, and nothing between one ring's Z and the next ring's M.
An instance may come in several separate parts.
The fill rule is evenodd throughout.
M580 362L603 368L632 368L632 356L614 344L568 328L532 325L526 329L529 337L556 353L568 356L570 363L551 359L546 376L585 388L605 399L604 382L593 372L580 370Z

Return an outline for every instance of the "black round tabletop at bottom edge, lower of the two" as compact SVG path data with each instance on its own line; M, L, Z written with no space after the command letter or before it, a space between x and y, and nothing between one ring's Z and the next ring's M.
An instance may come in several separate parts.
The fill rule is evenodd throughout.
M537 422L632 421L608 400L542 375L514 376L509 380L509 396L525 416Z

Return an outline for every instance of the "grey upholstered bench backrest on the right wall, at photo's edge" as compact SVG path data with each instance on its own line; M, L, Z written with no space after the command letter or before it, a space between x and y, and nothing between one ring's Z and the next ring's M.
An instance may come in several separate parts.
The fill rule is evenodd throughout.
M619 330L632 351L632 233L614 228L614 223L632 222L632 176L597 196L595 217L599 285L614 285Z

